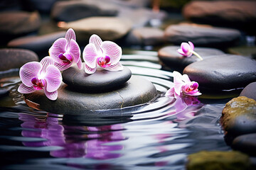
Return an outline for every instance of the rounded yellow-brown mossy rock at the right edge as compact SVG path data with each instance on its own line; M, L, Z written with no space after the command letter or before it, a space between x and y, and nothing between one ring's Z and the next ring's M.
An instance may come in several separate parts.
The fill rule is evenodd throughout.
M221 123L226 133L244 135L256 132L256 101L239 96L226 103Z

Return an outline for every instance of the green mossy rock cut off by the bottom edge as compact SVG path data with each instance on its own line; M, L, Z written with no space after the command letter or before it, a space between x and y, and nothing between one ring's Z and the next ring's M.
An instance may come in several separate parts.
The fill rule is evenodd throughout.
M240 152L202 151L188 155L188 170L250 169L250 158Z

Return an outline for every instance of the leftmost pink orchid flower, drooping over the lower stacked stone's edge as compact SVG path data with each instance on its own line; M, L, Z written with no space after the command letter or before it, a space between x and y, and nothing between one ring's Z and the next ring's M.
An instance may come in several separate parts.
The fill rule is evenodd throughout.
M51 57L44 57L41 62L28 62L20 69L21 85L18 92L30 94L43 89L46 96L55 101L58 98L57 89L62 82L60 70L55 67Z

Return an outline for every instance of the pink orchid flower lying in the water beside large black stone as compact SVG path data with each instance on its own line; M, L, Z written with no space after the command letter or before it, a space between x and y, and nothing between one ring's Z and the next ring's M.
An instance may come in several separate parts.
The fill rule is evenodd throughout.
M174 87L166 91L166 96L178 97L182 95L199 96L201 93L198 91L198 83L191 81L187 74L181 75L179 72L174 71Z

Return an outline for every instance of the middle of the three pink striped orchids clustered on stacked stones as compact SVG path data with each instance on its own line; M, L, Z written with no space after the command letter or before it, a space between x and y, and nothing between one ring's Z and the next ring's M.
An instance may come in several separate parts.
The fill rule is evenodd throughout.
M55 66L58 67L60 71L68 69L73 63L78 64L78 68L82 69L80 47L75 40L75 31L70 28L67 33L65 33L65 38L55 40L49 49L50 57L53 57Z

